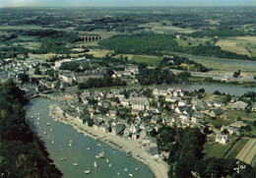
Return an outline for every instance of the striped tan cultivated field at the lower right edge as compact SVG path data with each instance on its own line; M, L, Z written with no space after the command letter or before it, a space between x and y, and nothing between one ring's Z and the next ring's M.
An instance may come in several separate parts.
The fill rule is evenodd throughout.
M240 152L236 155L235 158L244 161L248 164L254 162L256 154L256 140L250 139L247 144L240 150Z

